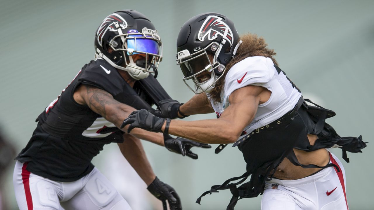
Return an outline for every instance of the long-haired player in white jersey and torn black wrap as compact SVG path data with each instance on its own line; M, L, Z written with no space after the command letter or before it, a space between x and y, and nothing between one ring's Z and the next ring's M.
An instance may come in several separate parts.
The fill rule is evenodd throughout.
M238 199L259 194L263 210L348 209L343 166L326 148L341 147L347 160L346 151L359 152L365 142L361 136L337 135L325 123L335 113L307 105L278 67L274 50L266 46L257 35L239 37L224 15L192 17L178 35L177 64L183 81L197 95L178 109L166 103L161 111L180 117L215 112L217 119L171 120L139 110L122 126L220 144L216 153L229 143L237 146L246 172L202 194L230 189L228 210ZM237 186L249 176L248 182ZM197 203L200 200L201 196Z

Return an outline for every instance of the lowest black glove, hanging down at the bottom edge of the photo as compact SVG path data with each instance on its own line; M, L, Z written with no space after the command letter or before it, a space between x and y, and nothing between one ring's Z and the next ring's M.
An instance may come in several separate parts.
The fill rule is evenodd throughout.
M182 210L181 200L177 192L175 192L175 189L168 184L161 182L157 176L147 189L152 195L154 195L154 197L163 201L163 204L164 201L167 200L170 210Z

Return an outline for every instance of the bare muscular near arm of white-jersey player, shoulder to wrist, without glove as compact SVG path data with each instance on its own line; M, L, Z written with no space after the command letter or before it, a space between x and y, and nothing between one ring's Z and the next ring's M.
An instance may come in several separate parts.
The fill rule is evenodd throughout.
M259 98L246 87L240 88L230 96L230 106L221 117L212 120L180 121L172 120L169 126L171 135L192 139L203 143L233 143L245 126L253 120ZM163 129L165 126L163 126Z

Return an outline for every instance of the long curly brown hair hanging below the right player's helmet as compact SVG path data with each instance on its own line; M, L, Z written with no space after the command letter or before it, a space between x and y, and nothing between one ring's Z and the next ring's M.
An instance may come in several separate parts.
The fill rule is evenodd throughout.
M222 78L217 81L214 88L209 93L209 97L213 99L215 103L221 102L221 91L225 85L225 77L227 72L230 71L230 68L238 62L242 61L245 58L252 56L264 56L271 58L275 65L278 65L277 61L273 56L276 55L274 49L267 48L267 44L263 37L258 37L256 34L244 34L240 36L240 40L243 43L240 45L237 50L236 56L231 59L231 61L226 65L226 71L224 72Z

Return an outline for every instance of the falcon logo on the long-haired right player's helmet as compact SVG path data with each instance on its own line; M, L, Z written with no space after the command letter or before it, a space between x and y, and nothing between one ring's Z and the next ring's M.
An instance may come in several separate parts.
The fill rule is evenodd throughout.
M208 40L213 40L218 35L229 41L230 46L232 45L233 33L230 27L222 21L222 18L209 15L199 30L198 38L200 41L204 41L206 37Z

